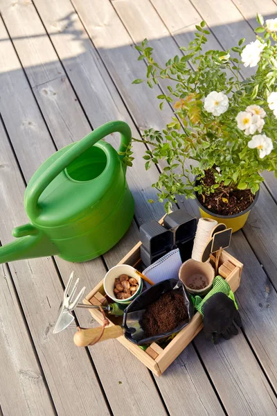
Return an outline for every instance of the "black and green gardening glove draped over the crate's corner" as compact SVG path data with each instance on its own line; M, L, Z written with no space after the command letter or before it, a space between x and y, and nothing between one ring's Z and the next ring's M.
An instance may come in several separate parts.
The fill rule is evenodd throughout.
M193 303L203 317L206 340L217 344L220 334L226 340L230 339L232 333L238 335L235 324L242 327L238 304L229 284L222 277L215 277L211 291L204 299L195 296Z

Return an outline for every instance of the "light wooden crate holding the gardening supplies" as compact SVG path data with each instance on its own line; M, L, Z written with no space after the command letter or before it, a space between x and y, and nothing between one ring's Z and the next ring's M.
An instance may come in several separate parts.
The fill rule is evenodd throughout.
M141 242L136 244L134 248L122 259L118 264L129 264L130 266L138 267L141 257L140 257L140 248ZM222 251L222 255L220 257L220 264L224 263L224 261L231 261L235 266L234 270L231 274L226 278L228 281L231 290L235 292L238 287L240 286L240 275L242 273L242 263L231 256L231 254L227 253L226 251ZM103 281L100 283L86 296L84 299L85 304L104 304L105 300L105 291L103 288ZM102 324L103 317L102 313L96 309L90 309L91 315L93 318ZM115 318L116 319L116 318ZM109 326L114 325L114 317L109 320ZM197 333L201 331L203 327L202 323L202 316L199 312L195 313L193 319L190 323L182 329L175 338L166 346L166 348L162 349L156 343L152 343L150 347L146 351L143 351L138 345L131 343L125 336L120 336L116 338L122 345L124 345L127 349L129 349L136 358L146 365L154 374L157 376L161 376L161 374L169 367L169 365L179 356L179 354L186 348L186 346L190 343Z

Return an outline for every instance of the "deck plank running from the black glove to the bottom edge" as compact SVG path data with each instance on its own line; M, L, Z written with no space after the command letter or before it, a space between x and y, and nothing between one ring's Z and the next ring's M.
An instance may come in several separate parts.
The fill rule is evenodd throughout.
M243 334L222 340L218 345L207 343L203 331L195 338L201 349L206 369L217 387L228 415L275 415L277 401L265 375L253 356ZM240 345L240 347L238 347ZM230 377L231 367L237 372Z

